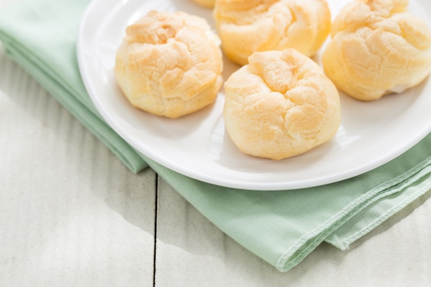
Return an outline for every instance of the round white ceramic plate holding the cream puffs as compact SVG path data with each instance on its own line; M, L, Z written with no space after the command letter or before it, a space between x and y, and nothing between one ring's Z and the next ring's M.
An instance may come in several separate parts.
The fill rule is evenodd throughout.
M329 0L332 13L346 2ZM431 131L428 80L372 103L341 94L341 126L335 138L280 161L246 156L233 145L224 130L223 91L210 107L176 120L140 111L118 89L113 67L125 27L149 10L183 10L205 17L213 25L211 10L191 0L94 0L81 22L78 63L87 91L107 123L138 151L178 173L238 189L314 187L379 167ZM412 1L410 10L423 18L431 16L426 0ZM224 61L224 78L236 69Z

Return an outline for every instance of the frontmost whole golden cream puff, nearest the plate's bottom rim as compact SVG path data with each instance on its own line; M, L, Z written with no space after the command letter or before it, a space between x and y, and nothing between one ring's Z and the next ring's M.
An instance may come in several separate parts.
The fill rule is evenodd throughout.
M224 83L223 118L231 140L251 156L280 160L333 138L337 88L294 49L255 52Z

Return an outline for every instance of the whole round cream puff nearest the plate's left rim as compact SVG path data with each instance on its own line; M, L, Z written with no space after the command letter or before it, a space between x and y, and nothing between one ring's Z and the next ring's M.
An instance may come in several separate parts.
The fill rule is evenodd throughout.
M127 27L114 72L132 105L178 118L215 100L222 85L220 39L201 17L151 11Z

